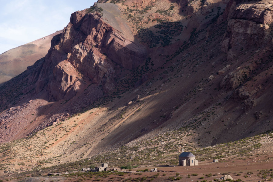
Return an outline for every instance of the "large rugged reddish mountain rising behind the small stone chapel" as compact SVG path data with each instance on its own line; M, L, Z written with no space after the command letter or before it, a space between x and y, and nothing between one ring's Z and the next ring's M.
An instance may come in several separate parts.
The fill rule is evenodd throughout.
M265 0L111 0L72 13L47 55L0 87L2 169L144 165L163 151L176 164L181 148L201 157L272 130L272 12Z

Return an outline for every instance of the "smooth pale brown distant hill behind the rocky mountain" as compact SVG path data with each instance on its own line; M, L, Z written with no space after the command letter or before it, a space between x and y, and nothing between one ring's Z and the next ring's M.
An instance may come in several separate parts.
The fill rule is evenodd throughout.
M0 84L24 72L28 66L44 57L50 48L52 37L61 32L57 31L2 53L0 55Z

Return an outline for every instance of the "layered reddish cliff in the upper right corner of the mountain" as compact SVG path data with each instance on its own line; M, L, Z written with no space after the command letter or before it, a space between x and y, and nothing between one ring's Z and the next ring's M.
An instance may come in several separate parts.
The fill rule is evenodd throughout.
M230 51L229 54L232 55L231 48L251 48L270 43L269 26L273 22L272 2L263 0L241 4L237 7L235 5L236 2L231 1L224 13L228 19L231 19L222 40L221 50L223 52ZM234 11L233 8L235 8Z

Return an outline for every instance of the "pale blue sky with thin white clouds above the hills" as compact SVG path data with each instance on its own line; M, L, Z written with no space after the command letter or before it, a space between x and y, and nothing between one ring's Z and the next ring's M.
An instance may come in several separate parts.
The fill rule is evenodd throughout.
M0 54L62 30L97 0L0 0Z

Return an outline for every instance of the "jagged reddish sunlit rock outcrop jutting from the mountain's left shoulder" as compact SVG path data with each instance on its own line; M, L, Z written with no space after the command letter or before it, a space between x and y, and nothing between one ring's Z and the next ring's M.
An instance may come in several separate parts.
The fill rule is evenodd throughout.
M35 93L46 89L49 99L70 99L86 88L84 79L107 93L114 88L115 69L134 69L146 57L144 46L125 39L98 13L77 11L52 40Z

